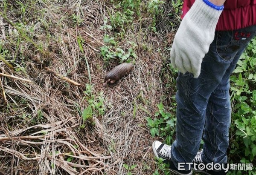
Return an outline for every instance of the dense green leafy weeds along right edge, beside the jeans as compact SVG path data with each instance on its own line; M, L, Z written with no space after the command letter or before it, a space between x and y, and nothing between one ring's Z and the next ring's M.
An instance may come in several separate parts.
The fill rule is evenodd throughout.
M233 104L230 159L255 164L256 156L256 39L253 39L230 77ZM239 172L238 172L239 173ZM255 168L249 174L255 174Z

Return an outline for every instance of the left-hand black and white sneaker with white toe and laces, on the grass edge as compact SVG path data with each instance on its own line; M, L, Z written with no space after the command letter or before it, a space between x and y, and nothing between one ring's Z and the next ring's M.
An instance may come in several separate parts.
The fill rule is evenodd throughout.
M169 169L172 171L175 175L192 175L192 169L191 170L179 170L175 167L175 165L172 162L171 158L171 149L172 146L163 144L160 141L154 141L152 143L152 148L154 155L157 158L163 158L165 164L169 164Z

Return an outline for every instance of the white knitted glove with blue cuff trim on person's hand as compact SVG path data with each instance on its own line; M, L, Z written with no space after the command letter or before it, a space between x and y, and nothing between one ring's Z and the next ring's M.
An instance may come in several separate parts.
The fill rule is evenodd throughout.
M215 28L224 6L215 6L208 0L196 0L180 23L175 35L171 62L180 72L193 73L197 78L201 63L214 40Z

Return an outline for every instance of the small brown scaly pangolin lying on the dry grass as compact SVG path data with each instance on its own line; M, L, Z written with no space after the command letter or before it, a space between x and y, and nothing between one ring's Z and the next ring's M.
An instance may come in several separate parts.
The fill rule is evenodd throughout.
M122 63L116 66L114 69L108 72L108 74L105 76L103 85L106 85L108 82L110 82L111 84L115 83L122 76L130 72L132 68L133 68L132 63Z

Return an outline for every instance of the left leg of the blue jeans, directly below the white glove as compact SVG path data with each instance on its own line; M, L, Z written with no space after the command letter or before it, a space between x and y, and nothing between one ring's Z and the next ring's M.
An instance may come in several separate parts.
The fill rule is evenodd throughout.
M216 61L216 58L218 55L208 52L203 59L198 78L193 78L188 72L184 75L179 73L177 77L176 140L171 154L176 167L178 162L192 162L198 152L209 97L230 64L224 64L223 60ZM188 166L185 165L184 168L188 169Z

